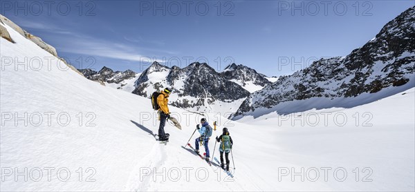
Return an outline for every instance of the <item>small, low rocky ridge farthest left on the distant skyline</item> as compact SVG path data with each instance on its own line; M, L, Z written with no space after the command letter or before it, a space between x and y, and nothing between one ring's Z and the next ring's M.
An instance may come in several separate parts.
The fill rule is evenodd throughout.
M103 67L100 71L96 72L90 68L86 69L78 69L87 79L93 81L104 81L109 84L116 83L119 84L120 82L124 81L125 79L131 79L136 77L136 73L132 70L116 71L114 72L111 68Z

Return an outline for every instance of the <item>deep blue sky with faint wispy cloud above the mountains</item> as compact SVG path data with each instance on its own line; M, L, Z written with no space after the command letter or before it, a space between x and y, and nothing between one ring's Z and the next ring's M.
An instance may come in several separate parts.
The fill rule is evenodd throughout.
M33 3L37 2L37 3ZM53 3L50 3L53 2ZM348 55L415 1L1 1L1 14L77 68L232 62L288 75ZM180 10L178 10L180 9Z

